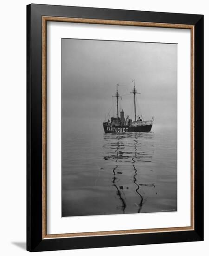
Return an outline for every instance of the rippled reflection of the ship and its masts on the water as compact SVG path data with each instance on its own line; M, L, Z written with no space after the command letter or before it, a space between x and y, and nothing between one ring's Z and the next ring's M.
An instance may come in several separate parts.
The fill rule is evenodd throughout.
M140 213L146 195L143 186L155 187L155 183L140 181L141 171L149 169L154 153L152 132L104 134L104 161L110 161L112 167L112 186L118 197L117 208L123 213ZM150 171L150 169L149 169ZM153 170L151 170L153 171Z

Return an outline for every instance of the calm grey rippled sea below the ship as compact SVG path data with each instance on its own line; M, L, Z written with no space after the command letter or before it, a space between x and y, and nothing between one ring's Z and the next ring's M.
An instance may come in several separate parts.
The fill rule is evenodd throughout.
M176 210L176 130L63 137L62 216Z

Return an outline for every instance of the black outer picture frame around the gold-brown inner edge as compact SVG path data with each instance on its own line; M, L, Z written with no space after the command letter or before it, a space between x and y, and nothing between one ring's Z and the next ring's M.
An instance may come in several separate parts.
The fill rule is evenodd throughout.
M27 6L27 250L47 251L203 240L203 15L31 4ZM43 239L42 17L194 26L194 230ZM186 132L186 131L185 131Z

